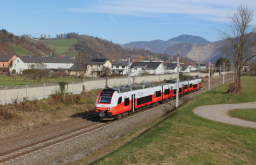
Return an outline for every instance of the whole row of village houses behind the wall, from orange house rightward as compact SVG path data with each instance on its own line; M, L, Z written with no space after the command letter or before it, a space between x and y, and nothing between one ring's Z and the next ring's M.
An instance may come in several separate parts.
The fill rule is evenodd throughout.
M0 55L0 63L2 59L7 55ZM112 61L111 59L71 59L65 56L51 57L51 56L15 56L8 55L9 61L3 64L3 67L8 66L10 61L13 61L10 71L15 69L17 74L21 74L23 70L28 70L32 65L40 65L47 68L51 72L66 72L70 75L82 75L86 77L100 77L102 70L109 68L111 72L115 74L127 75L129 69L131 70L131 76L141 74L165 74L165 73L177 73L177 72L191 72L196 70L196 66L193 63L189 65L177 66L177 63L162 63L156 62L133 62L127 61ZM8 58L4 59L5 61ZM82 62L83 61L83 62ZM84 63L84 64L83 64ZM10 63L9 63L10 65ZM85 68L84 68L85 66ZM202 67L202 66L199 66ZM204 65L205 67L205 65Z

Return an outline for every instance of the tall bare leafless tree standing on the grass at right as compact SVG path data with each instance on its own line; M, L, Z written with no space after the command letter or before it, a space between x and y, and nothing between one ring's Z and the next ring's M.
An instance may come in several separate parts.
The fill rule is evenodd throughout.
M248 6L239 6L237 12L229 15L230 22L225 24L228 31L218 30L221 39L225 44L218 51L226 54L234 63L235 83L232 93L239 91L239 83L241 83L241 70L247 61L256 57L256 26L252 24L253 10Z

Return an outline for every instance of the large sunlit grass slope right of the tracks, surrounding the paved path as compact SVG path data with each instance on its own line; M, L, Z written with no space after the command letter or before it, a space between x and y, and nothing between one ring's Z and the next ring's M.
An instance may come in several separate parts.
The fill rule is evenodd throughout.
M193 113L198 106L256 101L256 79L241 81L241 95L225 93L227 86L208 91L71 164L255 164L255 129Z

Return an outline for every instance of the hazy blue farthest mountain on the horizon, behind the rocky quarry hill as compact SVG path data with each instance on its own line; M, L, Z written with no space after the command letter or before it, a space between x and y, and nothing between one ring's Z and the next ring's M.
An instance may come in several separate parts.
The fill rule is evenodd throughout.
M211 43L200 36L191 36L191 35L180 35L178 37L172 38L168 41L163 40L153 40L150 42L130 42L124 44L123 47L128 47L133 49L134 47L150 50L156 53L163 53L169 47L177 45L179 43Z

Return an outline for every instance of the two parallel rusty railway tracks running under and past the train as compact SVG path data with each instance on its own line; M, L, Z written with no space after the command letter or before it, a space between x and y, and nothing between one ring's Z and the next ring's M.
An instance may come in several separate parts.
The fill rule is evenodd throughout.
M231 79L232 79L232 77L227 76L225 81L227 82L227 81L230 81ZM221 83L223 83L222 79L221 80L216 79L216 80L211 82L211 87L220 85ZM180 99L182 99L182 98L186 99L186 97L194 95L194 94L196 94L196 93L198 93L199 91L202 91L202 90L208 90L208 83L203 83L203 87L202 87L201 90L196 90L195 92L190 93L189 95L184 95ZM173 102L174 100L175 99L171 100L170 102ZM170 104L170 102L169 102L169 104ZM163 104L161 104L161 105L163 105ZM156 107L154 107L154 108L156 108ZM142 113L142 112L147 111L147 110L149 110L149 109L144 109L143 111L139 111L138 113ZM138 113L131 114L127 117L136 115ZM93 118L93 115L91 114L90 116L86 116L84 119L88 119L88 118ZM79 122L83 122L84 119L75 118L73 120L68 120L67 122L56 123L54 125L48 125L48 126L40 128L40 129L30 130L30 131L27 131L27 132L23 132L21 134L17 134L17 135L9 136L9 137L6 137L6 138L2 138L3 141L2 141L2 139L0 139L0 146L13 143L13 142L18 141L20 139L30 138L31 136L37 136L38 134L46 134L47 132L54 131L56 129L61 129L63 127L67 127L68 125L73 125L73 124L76 124L76 123L79 123ZM123 118L121 118L120 120L122 120L122 119ZM15 159L15 158L20 157L22 155L26 155L27 153L34 152L36 150L40 150L41 148L45 148L47 146L51 146L51 145L54 145L56 143L61 143L65 140L67 140L67 139L74 138L74 137L79 136L81 134L84 134L86 132L90 132L92 130L98 129L100 127L103 127L103 126L106 126L110 123L115 123L115 122L118 122L118 121L119 120L115 120L113 122L108 122L108 123L95 122L95 123L92 123L90 125L80 127L78 129L70 130L68 132L64 132L62 134L52 136L51 138L46 138L46 139L43 139L43 140L40 140L40 141L30 143L28 145L24 145L24 146L20 146L18 148L12 149L12 150L8 150L6 152L0 153L0 163L10 161L11 159Z

